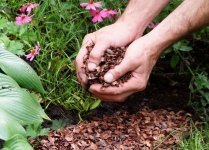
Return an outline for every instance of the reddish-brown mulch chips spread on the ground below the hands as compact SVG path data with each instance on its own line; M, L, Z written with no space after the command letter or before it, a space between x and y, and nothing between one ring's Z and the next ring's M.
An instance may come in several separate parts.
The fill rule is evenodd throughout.
M40 139L39 150L171 149L190 128L185 111L152 110L142 106L135 114L117 111L51 132ZM33 145L37 141L32 141Z

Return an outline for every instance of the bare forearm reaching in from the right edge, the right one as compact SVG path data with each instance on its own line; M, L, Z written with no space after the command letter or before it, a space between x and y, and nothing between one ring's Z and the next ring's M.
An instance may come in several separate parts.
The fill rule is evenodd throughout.
M148 36L158 47L154 55L203 26L209 24L209 0L184 0L184 2L164 19Z

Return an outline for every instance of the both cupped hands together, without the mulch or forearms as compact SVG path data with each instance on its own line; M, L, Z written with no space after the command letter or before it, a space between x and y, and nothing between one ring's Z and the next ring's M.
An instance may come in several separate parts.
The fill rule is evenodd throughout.
M87 77L82 69L83 57L87 54L86 46L95 45L90 52L90 63L87 66L89 70L94 70L107 48L126 46L131 43L123 61L114 69L109 70L104 79L107 82L113 82L127 72L132 72L133 77L119 87L101 88L102 85L93 84L89 91L99 99L111 102L122 102L129 95L143 91L158 55L153 54L154 47L149 37L146 35L140 37L142 33L143 31L133 30L128 25L115 23L86 35L75 61L77 78L81 85L85 87L87 84Z

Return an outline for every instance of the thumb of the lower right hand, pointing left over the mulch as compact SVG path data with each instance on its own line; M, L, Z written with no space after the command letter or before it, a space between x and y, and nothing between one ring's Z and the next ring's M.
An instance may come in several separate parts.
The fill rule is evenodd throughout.
M136 67L137 66L133 65L129 58L125 57L119 65L115 66L115 68L109 70L104 75L104 80L107 83L111 83L122 77L127 72L133 71Z

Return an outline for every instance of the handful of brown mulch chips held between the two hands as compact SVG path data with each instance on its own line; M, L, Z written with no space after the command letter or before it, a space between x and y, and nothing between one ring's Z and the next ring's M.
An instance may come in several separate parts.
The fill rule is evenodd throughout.
M126 47L108 48L105 51L99 66L97 66L97 68L94 71L89 71L87 65L89 63L89 54L93 49L93 47L94 45L90 45L86 47L88 53L83 58L83 63L84 63L83 69L85 70L86 76L88 78L88 86L97 83L97 84L102 84L103 88L109 86L119 87L120 84L123 84L132 77L131 72L128 72L125 75L123 75L121 78L119 78L118 80L112 83L107 83L104 81L104 75L110 69L113 69L116 65L119 65L123 60L126 52Z

